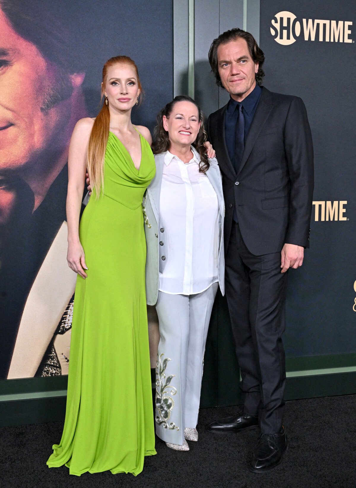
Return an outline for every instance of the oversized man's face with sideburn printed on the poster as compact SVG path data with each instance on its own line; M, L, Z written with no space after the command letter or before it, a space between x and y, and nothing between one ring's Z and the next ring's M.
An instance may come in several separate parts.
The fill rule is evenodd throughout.
M64 81L0 9L0 175L37 161L49 147L66 146L72 90L70 77Z

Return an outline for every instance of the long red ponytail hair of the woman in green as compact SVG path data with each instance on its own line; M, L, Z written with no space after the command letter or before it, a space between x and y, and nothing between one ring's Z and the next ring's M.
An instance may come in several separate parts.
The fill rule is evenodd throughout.
M137 81L138 81L138 88L140 90L139 99L141 102L142 87L138 78L138 69L135 61L133 61L128 56L114 56L113 58L110 58L108 61L106 61L106 63L104 64L104 67L102 68L101 101L104 96L108 69L114 64L130 64L135 68ZM110 128L109 105L107 105L104 102L99 114L97 115L94 121L93 128L89 138L89 146L88 146L87 167L88 167L88 173L90 178L90 184L93 190L95 190L96 198L99 198L100 193L102 193L104 189L104 159L105 159L106 145L109 138L109 128Z

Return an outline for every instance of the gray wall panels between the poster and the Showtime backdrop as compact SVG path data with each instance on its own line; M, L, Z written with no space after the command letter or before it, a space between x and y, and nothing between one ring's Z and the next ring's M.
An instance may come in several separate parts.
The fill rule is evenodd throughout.
M258 42L259 0L174 0L173 3L174 95L194 96L208 116L229 100L211 73L209 47L219 34L233 27L247 28Z

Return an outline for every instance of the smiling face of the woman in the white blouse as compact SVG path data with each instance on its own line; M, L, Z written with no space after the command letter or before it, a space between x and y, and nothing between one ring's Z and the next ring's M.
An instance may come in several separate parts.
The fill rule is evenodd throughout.
M167 118L163 115L163 128L168 132L171 146L189 146L197 139L200 129L197 106L188 101L176 102Z

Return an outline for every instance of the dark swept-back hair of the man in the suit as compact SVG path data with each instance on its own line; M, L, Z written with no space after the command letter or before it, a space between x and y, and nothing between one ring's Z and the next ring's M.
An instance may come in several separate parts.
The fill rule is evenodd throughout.
M252 60L255 63L258 62L258 71L255 77L257 85L260 85L262 83L262 78L264 77L264 71L262 69L262 65L264 63L263 51L262 49L260 49L260 47L258 47L256 39L252 34L236 27L235 29L231 29L220 34L219 37L214 39L209 49L209 62L218 86L222 86L218 70L218 47L220 44L227 44L228 42L236 41L239 38L244 39L247 42L248 50L250 52Z

